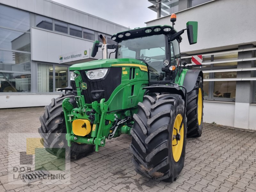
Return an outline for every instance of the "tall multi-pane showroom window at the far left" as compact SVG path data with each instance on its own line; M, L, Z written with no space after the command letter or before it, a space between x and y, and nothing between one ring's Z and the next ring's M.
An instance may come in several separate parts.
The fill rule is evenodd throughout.
M0 92L31 92L30 14L0 5Z

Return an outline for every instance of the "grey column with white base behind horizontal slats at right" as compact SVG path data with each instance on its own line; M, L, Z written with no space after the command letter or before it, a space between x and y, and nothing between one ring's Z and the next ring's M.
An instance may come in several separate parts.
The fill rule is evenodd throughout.
M253 48L253 44L238 46L238 49ZM238 59L252 58L254 51L238 52ZM237 68L252 68L254 61L239 61ZM252 71L237 71L237 77L252 77ZM249 108L252 103L252 81L236 82L236 103L234 126L249 128Z

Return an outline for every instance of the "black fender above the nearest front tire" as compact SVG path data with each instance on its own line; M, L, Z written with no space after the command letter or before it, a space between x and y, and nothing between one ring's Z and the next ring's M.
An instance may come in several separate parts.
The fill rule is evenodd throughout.
M194 86L193 86L194 88ZM169 92L173 94L181 95L182 99L185 100L185 94L178 86L164 86L164 85L158 85L158 86L148 86L143 87L142 89L147 89L149 92Z

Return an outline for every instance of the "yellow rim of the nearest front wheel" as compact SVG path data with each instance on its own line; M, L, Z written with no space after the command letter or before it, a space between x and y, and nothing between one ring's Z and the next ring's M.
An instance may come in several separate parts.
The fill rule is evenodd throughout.
M182 125L180 130L181 121L182 121L182 115L178 114L175 118L173 129L172 129L172 156L175 162L178 162L180 160L180 156L183 148L184 125ZM180 130L180 136L178 135L179 130Z

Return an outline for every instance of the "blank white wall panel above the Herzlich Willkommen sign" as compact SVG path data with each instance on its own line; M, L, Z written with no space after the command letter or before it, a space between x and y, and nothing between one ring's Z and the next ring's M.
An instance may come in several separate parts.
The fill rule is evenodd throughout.
M43 29L31 30L32 60L59 63L59 56L78 50L89 50L93 42L61 35Z

